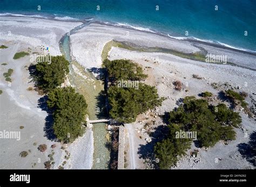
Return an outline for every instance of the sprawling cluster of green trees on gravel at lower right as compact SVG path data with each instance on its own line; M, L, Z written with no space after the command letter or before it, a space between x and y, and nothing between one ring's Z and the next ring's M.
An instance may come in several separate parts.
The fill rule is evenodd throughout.
M217 106L209 105L205 99L194 96L184 98L183 105L170 112L170 133L167 138L154 147L159 167L170 168L178 160L178 156L190 147L191 139L176 138L174 132L197 132L200 147L214 146L219 140L234 140L233 127L239 127L241 117L221 103Z

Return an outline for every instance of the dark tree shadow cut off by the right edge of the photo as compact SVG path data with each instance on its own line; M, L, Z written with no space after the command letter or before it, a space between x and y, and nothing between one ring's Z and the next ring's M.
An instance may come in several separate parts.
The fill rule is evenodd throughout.
M248 162L256 166L256 131L250 134L250 141L248 143L239 143L237 145L239 153Z

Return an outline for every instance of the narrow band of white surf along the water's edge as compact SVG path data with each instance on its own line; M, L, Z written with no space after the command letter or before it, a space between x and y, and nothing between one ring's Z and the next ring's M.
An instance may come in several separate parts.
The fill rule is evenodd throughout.
M1 15L2 14L2 15ZM177 40L177 41L188 41L188 42L192 42L195 44L204 44L207 46L211 46L211 47L217 47L217 48L221 48L221 49L227 49L230 51L234 51L234 52L240 52L240 53L245 53L245 54L250 54L250 55L255 55L256 56L256 51L252 51L251 49L245 49L245 48L240 48L240 47L236 47L236 46L232 46L229 44L225 44L221 41L212 41L212 40L207 40L207 39L200 39L200 38L196 38L196 37L174 37L169 35L169 33L165 33L165 32L161 32L161 31L157 31L157 30L150 30L149 28L146 27L136 27L136 26L132 26L132 24L122 24L122 23L118 23L118 22L114 22L114 21L104 21L104 20L97 20L95 18L90 17L89 19L78 19L78 18L72 18L72 17L56 17L56 16L50 16L50 17L44 17L41 15L19 15L19 14L8 14L6 13L6 15L4 15L4 13L0 13L0 18L1 17L19 17L19 18L34 18L34 19L45 19L45 20L55 20L55 21L64 21L64 22L78 22L78 23L89 23L89 24L100 24L100 25L107 25L107 26L114 26L114 27L118 27L118 28L125 28L128 30L133 30L133 31L139 31L139 32L145 32L145 33L151 33L151 34L156 34L156 35L160 35L161 37L166 37L169 39L173 39L173 40Z

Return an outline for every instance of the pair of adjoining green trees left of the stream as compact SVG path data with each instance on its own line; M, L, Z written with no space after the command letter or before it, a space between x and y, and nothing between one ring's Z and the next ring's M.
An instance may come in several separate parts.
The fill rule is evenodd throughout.
M33 78L39 90L48 94L47 105L53 114L53 132L57 139L72 142L84 133L87 104L72 87L60 88L69 73L64 56L52 56L50 62L38 62Z

